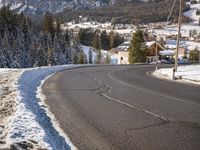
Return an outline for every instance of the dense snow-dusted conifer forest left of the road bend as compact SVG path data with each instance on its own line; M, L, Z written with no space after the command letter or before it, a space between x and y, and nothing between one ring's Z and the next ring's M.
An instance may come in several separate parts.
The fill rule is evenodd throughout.
M3 7L0 10L0 67L24 68L77 62L81 51L77 40L60 31L51 14L36 24L23 14Z

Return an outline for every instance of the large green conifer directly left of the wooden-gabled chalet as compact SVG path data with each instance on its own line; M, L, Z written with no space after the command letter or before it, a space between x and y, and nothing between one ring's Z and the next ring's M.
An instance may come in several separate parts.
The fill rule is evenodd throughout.
M141 30L137 30L136 33L133 34L131 45L128 50L130 64L145 62L147 47Z

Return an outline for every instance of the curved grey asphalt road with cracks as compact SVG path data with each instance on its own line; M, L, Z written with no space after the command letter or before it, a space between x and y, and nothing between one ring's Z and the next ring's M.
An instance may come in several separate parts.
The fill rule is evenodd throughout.
M153 66L66 70L46 103L80 150L199 150L200 87L147 75Z

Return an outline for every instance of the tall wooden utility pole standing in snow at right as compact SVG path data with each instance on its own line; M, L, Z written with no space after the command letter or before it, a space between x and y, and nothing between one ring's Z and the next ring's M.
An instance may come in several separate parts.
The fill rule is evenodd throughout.
M180 6L179 6L179 19L178 19L178 37L177 37L177 45L176 45L176 55L175 55L175 66L174 71L177 72L178 68L178 51L179 51L179 42L180 42L180 36L181 36L181 23L182 23L182 4L183 0L180 0ZM173 74L174 78L174 74Z

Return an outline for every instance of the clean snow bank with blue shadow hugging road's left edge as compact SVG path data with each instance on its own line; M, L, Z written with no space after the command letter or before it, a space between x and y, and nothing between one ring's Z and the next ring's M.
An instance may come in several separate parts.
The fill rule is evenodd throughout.
M18 81L18 106L10 123L9 141L36 141L39 145L51 149L75 149L67 136L52 122L46 106L37 96L38 87L49 75L72 66L44 67L25 70ZM44 82L44 81L43 81ZM41 94L40 94L41 96Z

